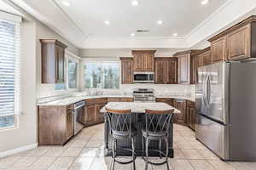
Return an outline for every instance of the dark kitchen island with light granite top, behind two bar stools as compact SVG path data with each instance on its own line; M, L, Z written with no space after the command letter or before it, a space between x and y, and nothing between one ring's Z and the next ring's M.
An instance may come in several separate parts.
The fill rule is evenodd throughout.
M180 111L172 107L171 105L167 105L166 103L162 102L109 102L105 105L101 112L103 114L106 113L105 108L113 109L113 110L130 110L131 109L131 117L132 117L132 124L137 128L137 136L135 138L136 142L136 154L137 156L142 156L142 127L143 127L143 119L145 110L155 110L155 111L166 111L174 109L174 113L178 114ZM113 138L110 134L110 127L108 124L108 119L105 117L105 156L112 156L112 141ZM173 126L171 123L170 126L170 137L169 137L169 157L173 157ZM149 149L158 149L159 142L152 141L149 144ZM130 140L119 140L117 143L117 156L131 156L131 152L126 150L120 150L121 148L131 148L131 141ZM161 150L166 150L166 146L163 144ZM149 156L159 156L157 152L148 152Z

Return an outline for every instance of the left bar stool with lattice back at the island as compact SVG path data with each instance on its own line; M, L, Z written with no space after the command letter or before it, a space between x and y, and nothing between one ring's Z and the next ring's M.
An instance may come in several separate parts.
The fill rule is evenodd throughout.
M106 108L109 127L111 129L111 134L113 137L113 161L112 161L112 169L114 169L115 161L121 164L128 164L133 163L133 169L135 170L135 160L136 160L136 153L135 153L135 136L136 136L136 128L131 125L131 110L112 110ZM132 160L131 161L118 161L116 159L116 145L117 140L125 140L131 139L131 149L122 148L122 150L131 150L132 153Z

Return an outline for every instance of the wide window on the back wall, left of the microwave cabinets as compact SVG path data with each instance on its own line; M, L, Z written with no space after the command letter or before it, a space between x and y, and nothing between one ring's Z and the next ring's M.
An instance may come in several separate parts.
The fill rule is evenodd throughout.
M86 62L84 88L119 88L119 62Z

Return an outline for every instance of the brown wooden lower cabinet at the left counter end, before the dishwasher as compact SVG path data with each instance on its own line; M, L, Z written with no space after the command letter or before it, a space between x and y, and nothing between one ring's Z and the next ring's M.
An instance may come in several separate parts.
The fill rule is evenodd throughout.
M72 105L38 106L38 144L63 145L73 136Z

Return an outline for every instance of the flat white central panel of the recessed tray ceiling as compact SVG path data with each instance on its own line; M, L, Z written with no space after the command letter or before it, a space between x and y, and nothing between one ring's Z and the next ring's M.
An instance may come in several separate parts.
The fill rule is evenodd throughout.
M77 23L86 35L93 37L139 37L186 36L203 20L221 7L227 0L212 0L201 5L201 0L66 0L70 6L55 0L58 6ZM109 26L104 21L110 22ZM157 21L163 24L158 25Z

